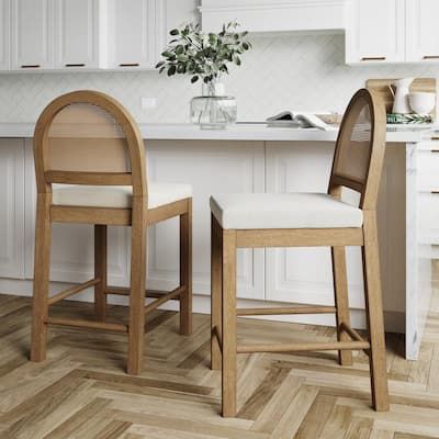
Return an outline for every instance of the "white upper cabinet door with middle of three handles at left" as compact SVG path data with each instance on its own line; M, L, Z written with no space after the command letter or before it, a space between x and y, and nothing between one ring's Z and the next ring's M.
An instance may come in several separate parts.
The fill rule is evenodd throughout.
M100 0L55 2L55 67L100 67L100 44L104 10Z

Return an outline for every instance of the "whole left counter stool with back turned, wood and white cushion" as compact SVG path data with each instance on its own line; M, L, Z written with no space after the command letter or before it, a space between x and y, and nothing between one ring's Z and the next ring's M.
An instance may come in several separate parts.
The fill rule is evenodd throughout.
M147 183L145 147L136 122L117 101L95 91L67 93L47 105L36 123L34 155L38 193L31 359L45 359L48 325L115 330L128 334L127 372L137 374L146 314L168 300L179 300L180 333L192 331L192 189ZM176 216L180 217L180 285L171 292L145 291L147 227ZM49 297L55 222L94 225L94 279ZM109 225L132 228L126 289L106 283ZM95 320L49 316L49 305L90 286L94 286ZM128 325L105 322L109 294L130 297ZM145 306L145 295L156 300Z

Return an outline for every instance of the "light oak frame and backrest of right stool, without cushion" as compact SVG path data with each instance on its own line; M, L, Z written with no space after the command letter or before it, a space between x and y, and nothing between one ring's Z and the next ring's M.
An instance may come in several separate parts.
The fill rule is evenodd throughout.
M342 365L352 364L352 350L365 350L370 357L372 403L375 410L389 409L385 363L383 309L380 282L380 261L376 233L376 200L384 160L385 108L376 92L359 90L345 113L337 139L328 194L336 199L342 188L359 192L363 225L356 228L304 229L222 229L212 219L212 369L218 368L222 354L222 413L237 414L236 353L292 352L297 350L337 350ZM336 342L237 344L237 315L300 314L300 308L237 309L236 249L240 247L330 247L333 256L335 307L305 307L304 314L335 312ZM369 340L350 327L346 246L361 246L364 266L364 293ZM222 258L219 257L222 255ZM222 281L221 281L222 280ZM221 303L222 301L222 303ZM219 327L219 308L222 327ZM219 342L219 336L222 337ZM219 351L219 347L222 348Z

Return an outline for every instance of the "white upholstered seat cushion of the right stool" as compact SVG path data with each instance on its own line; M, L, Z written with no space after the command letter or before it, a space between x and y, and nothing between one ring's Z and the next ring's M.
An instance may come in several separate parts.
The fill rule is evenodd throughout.
M360 209L326 193L227 193L211 196L225 229L361 227Z

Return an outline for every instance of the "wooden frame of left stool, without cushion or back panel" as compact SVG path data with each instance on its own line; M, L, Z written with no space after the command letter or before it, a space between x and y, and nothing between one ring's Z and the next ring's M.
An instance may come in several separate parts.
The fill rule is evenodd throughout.
M63 109L76 103L95 105L110 114L119 124L126 137L130 172L81 172L48 169L49 127ZM145 147L138 126L132 115L116 100L97 91L81 90L67 93L46 106L35 127L34 157L37 202L31 360L45 360L48 325L115 330L128 334L127 372L138 374L143 368L146 314L169 300L179 300L180 334L190 335L192 333L192 199L188 198L156 209L147 209ZM132 209L54 205L52 203L52 183L132 185ZM171 292L145 290L147 227L176 216L180 218L180 285ZM50 233L52 224L55 222L94 225L94 278L49 297ZM130 288L108 285L106 238L109 225L132 227ZM49 305L90 286L94 288L95 322L49 316ZM130 296L128 325L105 322L109 294ZM145 306L146 296L156 300Z

